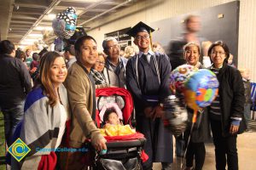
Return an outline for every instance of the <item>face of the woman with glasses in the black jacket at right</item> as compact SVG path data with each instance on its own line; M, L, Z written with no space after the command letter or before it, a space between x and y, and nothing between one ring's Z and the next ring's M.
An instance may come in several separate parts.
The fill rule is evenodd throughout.
M211 52L211 59L212 59L212 63L216 68L219 68L220 66L223 65L224 63L224 59L226 59L227 55L224 51L224 48L222 48L221 46L215 46L214 48L212 48L212 52Z

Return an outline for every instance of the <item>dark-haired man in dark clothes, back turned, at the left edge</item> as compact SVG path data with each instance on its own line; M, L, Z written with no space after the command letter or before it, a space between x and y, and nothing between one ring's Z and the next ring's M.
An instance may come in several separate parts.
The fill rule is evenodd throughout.
M8 40L0 42L0 107L4 116L4 132L10 146L14 129L24 114L26 94L32 88L26 65L15 58L15 45Z

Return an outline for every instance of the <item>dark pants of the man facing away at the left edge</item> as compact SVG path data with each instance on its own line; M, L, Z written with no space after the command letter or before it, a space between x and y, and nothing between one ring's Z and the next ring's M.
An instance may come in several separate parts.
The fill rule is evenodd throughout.
M2 109L4 118L4 133L8 147L11 145L15 127L18 125L24 115L24 102L10 109Z

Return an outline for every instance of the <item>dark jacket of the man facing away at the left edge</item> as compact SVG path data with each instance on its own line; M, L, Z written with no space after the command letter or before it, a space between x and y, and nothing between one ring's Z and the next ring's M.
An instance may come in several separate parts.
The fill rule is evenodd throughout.
M0 106L10 109L26 98L32 80L26 65L8 54L0 56Z

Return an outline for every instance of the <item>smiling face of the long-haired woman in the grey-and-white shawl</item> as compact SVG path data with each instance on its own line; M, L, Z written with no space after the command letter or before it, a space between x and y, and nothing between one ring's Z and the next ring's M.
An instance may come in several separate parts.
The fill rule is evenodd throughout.
M49 69L49 79L55 87L59 87L67 77L67 67L63 57L57 57Z

